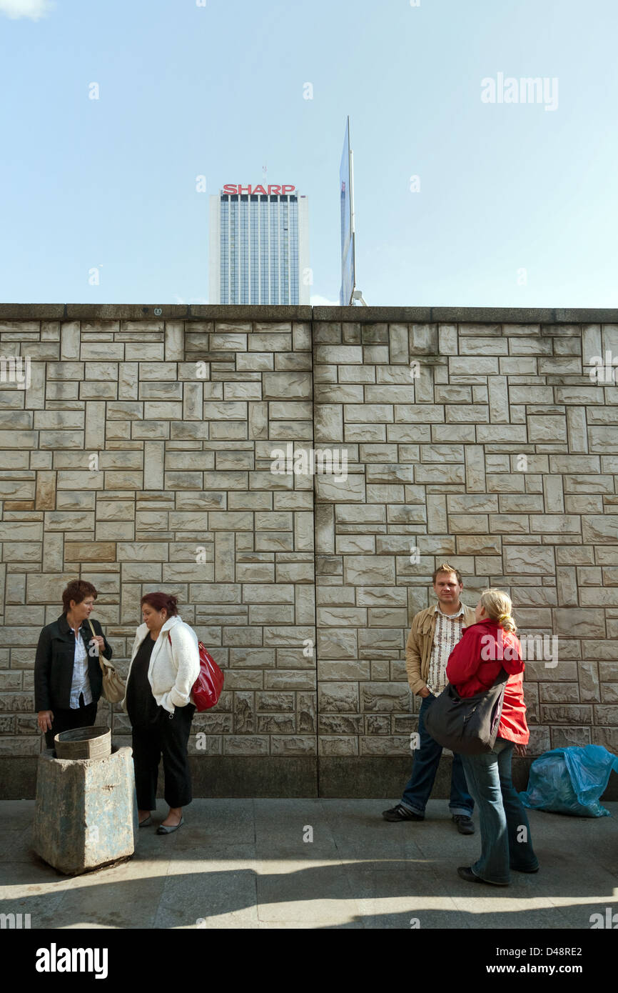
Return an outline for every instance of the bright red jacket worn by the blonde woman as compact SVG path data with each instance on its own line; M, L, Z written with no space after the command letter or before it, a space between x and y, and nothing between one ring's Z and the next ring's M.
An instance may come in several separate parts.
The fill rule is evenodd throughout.
M495 621L481 621L463 629L446 663L446 678L460 696L474 696L493 686L504 666L509 673L498 737L527 745L530 731L524 703L522 646L512 632Z

